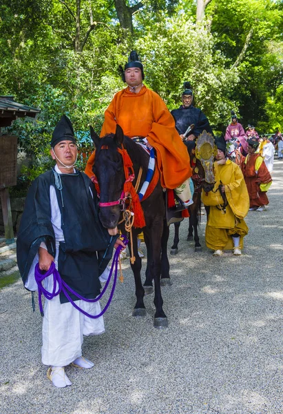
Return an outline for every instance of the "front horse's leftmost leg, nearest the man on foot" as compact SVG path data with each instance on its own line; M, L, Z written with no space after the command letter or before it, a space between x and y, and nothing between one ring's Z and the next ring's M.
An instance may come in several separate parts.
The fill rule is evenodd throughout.
M145 304L143 302L143 297L145 296L145 290L141 282L140 270L142 266L141 258L138 255L138 239L136 233L133 231L133 251L132 246L129 244L129 253L132 256L136 257L135 262L131 263L131 268L134 273L135 285L136 285L136 306L134 307L133 316L145 316L147 311L145 310Z

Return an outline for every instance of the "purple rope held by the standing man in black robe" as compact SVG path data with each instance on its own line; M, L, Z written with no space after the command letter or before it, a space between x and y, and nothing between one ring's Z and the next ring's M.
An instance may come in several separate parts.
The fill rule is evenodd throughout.
M127 243L129 242L125 237L123 239L123 242L125 245L127 245ZM68 286L63 279L61 278L59 271L56 269L54 262L52 262L49 270L47 270L47 272L43 273L40 268L39 268L39 263L36 264L35 269L34 269L34 278L39 290L39 310L41 312L41 315L43 316L43 306L42 306L42 297L41 295L43 295L46 299L51 300L53 299L55 296L59 295L61 292L63 292L63 294L65 295L65 297L67 297L67 299L69 300L69 302L71 302L71 304L74 306L74 308L76 308L78 311L80 311L81 313L83 313L83 315L87 316L87 317L91 317L92 319L97 319L98 317L101 317L103 315L103 313L105 313L107 311L107 308L109 307L109 304L112 301L113 295L114 295L114 290L116 287L116 281L117 281L117 273L118 273L118 259L119 259L119 255L120 255L120 250L122 249L122 246L118 246L118 248L116 248L116 252L114 253L114 257L113 257L113 261L112 261L112 266L109 272L109 276L107 278L107 282L105 283L105 286L103 288L103 290L101 291L101 294L98 295L95 299L87 299L86 297L83 297L81 295L79 295L79 293L75 292L72 288L70 288L70 286ZM85 302L97 302L99 299L101 299L101 297L103 297L105 290L107 289L107 286L109 285L110 279L112 277L112 273L114 270L114 265L115 265L115 271L114 271L114 280L113 280L113 286L111 289L111 293L109 296L109 299L107 300L107 304L105 305L105 308L103 309L103 311L101 311L101 313L99 313L98 315L90 315L89 313L85 312L82 308L80 308L78 305L75 304L74 300L70 297L69 293L71 293L72 295L75 295L76 297L78 297L78 299L81 299ZM52 292L49 292L48 290L46 290L43 287L43 280L45 279L45 277L48 277L50 275L53 275L53 290ZM58 284L58 289L56 290L56 285ZM69 293L67 293L67 290L69 291Z

